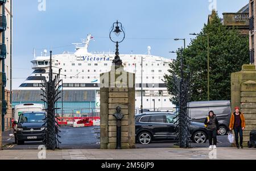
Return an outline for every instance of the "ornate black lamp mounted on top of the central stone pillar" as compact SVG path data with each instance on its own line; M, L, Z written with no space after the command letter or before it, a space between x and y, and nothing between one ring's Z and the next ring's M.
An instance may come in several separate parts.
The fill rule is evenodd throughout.
M120 25L120 26L119 26ZM121 29L121 30L120 30ZM123 34L122 37L120 37L120 35ZM114 40L113 37L115 36L115 39L117 40ZM122 23L118 22L115 22L113 23L113 26L111 28L111 31L109 33L109 38L111 41L113 41L116 45L116 49L115 49L115 59L113 60L113 64L117 65L117 66L121 66L122 65L122 60L120 59L119 57L119 45L118 43L121 43L124 39L125 39L125 32L123 31L123 26L122 26Z

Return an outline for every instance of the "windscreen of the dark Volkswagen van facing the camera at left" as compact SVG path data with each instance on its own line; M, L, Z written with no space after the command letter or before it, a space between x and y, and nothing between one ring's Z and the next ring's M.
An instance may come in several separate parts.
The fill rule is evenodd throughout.
M46 114L44 113L24 113L19 116L19 123L44 122Z

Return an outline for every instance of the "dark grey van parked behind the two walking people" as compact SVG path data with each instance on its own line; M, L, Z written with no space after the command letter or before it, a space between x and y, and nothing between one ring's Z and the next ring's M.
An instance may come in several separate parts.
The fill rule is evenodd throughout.
M220 124L220 135L228 133L229 120L231 116L230 101L200 101L188 103L189 117L192 122L204 123L209 111L212 110Z

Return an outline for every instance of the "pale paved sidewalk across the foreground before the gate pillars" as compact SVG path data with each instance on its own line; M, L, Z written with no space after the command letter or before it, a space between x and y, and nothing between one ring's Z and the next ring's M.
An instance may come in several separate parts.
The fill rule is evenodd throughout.
M0 151L0 160L38 160L38 150ZM216 158L220 160L255 160L256 148L218 148ZM212 156L212 155L210 155ZM213 156L212 156L213 157ZM46 151L47 160L209 160L207 148L154 148L154 149L67 149Z

